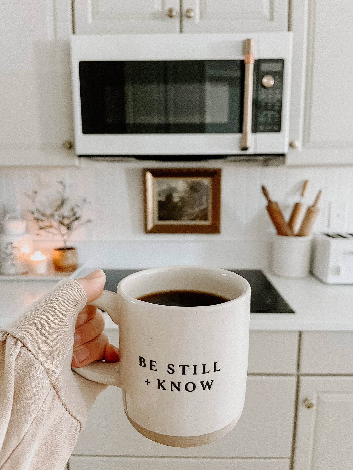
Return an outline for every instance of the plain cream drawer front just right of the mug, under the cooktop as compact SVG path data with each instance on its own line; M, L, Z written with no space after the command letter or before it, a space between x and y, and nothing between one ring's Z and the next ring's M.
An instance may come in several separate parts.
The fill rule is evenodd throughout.
M250 331L249 374L296 374L297 331Z

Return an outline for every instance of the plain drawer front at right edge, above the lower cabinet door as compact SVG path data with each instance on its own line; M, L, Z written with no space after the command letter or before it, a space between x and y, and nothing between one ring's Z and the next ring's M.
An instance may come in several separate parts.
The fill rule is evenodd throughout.
M302 333L300 373L353 374L353 333Z

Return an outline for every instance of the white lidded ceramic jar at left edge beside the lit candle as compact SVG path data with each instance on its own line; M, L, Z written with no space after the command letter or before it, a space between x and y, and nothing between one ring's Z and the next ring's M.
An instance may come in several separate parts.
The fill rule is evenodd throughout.
M33 251L31 235L26 232L27 223L18 214L8 214L2 221L0 235L0 272L25 274L28 272L28 256Z

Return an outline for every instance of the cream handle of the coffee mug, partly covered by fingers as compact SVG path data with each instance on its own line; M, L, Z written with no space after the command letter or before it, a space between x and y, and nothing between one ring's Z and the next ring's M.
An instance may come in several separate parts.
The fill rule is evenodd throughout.
M89 302L87 305L95 305L98 308L104 310L112 321L118 325L118 296L109 290L104 290L102 294L93 302ZM120 379L120 362L101 362L95 360L91 364L85 367L72 367L77 374L85 379L91 380L92 382L98 382L100 384L115 385L116 387L121 386Z

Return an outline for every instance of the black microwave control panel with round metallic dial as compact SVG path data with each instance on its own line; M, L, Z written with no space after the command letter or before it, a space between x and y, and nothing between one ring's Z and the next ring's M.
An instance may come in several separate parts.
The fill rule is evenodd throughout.
M253 132L281 132L283 59L254 64Z

